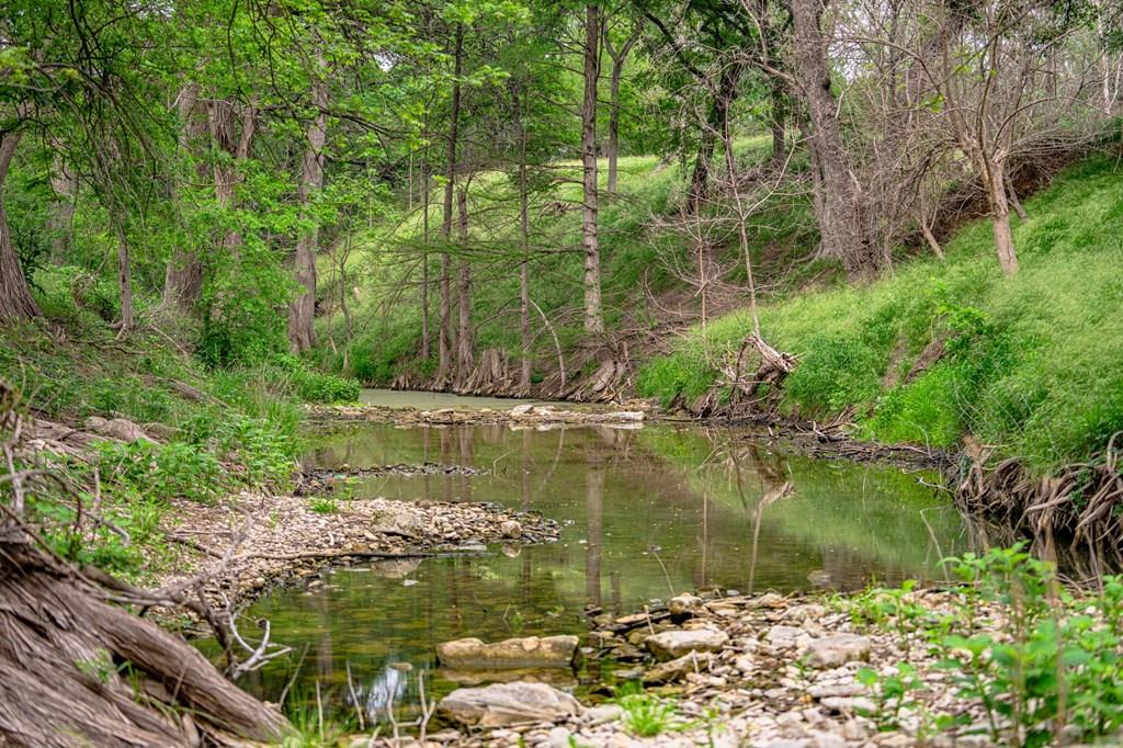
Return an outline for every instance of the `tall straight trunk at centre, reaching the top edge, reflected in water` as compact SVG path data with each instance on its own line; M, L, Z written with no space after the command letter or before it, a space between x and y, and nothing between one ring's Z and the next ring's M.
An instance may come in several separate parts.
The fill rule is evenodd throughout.
M585 6L585 98L581 161L584 172L582 245L585 249L585 332L604 332L601 312L601 250L596 236L596 81L600 77L600 8Z

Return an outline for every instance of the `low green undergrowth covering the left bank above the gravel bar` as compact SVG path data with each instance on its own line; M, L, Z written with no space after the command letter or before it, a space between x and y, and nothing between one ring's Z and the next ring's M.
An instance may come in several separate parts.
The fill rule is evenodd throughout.
M28 416L77 429L94 416L121 418L152 437L34 456L65 483L30 495L31 516L73 560L127 577L163 571L180 550L162 524L173 502L213 504L243 490L287 490L301 448L300 403L358 396L356 382L310 371L287 355L208 371L170 345L173 335L161 326L175 320L155 320L118 339L88 302L64 298L66 284L55 282L63 295L52 295L46 277L40 300L48 321L0 329L0 378Z

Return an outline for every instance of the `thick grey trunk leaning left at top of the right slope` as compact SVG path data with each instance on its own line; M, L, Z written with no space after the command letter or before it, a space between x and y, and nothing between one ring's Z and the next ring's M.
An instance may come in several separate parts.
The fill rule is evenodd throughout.
M811 148L819 170L815 211L820 252L842 263L851 277L876 270L877 252L866 237L858 191L846 164L838 103L831 92L822 0L791 0L794 64L811 119Z

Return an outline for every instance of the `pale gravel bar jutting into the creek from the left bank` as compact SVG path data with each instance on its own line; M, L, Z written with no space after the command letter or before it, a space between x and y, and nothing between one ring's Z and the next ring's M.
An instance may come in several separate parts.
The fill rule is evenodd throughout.
M246 602L331 564L482 553L490 544L556 540L536 512L482 502L331 500L239 494L214 505L176 502L167 514L176 547L161 586L201 580L212 602Z

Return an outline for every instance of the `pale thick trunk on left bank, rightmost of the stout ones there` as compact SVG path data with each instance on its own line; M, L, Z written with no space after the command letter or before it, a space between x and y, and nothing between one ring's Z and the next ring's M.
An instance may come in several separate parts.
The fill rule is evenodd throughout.
M289 305L289 345L294 354L316 345L316 250L320 228L311 208L316 193L323 189L323 146L328 139L328 83L325 73L323 60L319 58L312 77L316 116L308 125L308 145L296 191L302 217L309 226L296 240L294 274L300 290Z

